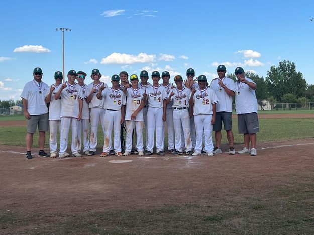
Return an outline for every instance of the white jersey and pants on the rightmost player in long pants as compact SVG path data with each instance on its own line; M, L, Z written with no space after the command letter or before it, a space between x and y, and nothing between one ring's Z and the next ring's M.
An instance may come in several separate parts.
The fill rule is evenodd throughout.
M204 151L207 153L213 152L213 139L212 139L212 124L213 117L213 104L219 102L215 92L206 87L204 90L196 89L193 96L194 101L194 118L196 129L196 146L195 152L201 153L203 145L203 135L205 138Z

